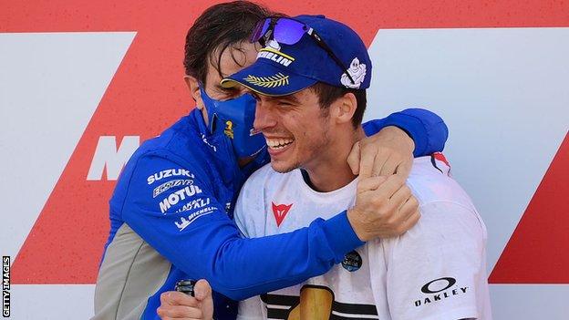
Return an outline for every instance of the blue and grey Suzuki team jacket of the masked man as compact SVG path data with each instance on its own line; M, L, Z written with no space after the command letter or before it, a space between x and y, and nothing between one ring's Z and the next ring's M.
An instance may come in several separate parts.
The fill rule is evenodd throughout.
M387 126L409 133L416 157L441 151L448 135L440 117L419 108L364 129L371 135ZM161 293L202 278L214 290L215 318L233 319L234 301L325 274L363 244L346 211L295 232L244 239L233 204L247 177L269 161L264 150L240 168L229 139L210 134L197 109L145 141L109 201L93 319L157 319Z

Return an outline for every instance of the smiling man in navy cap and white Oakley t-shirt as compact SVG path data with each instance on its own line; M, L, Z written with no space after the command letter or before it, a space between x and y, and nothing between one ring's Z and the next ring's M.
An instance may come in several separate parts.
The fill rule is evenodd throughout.
M373 198L369 185L398 180L358 181L346 162L365 137L371 74L357 34L322 15L267 18L257 32L268 46L253 66L222 81L253 92L254 128L269 145L271 163L245 182L234 212L251 238L327 219ZM422 217L408 232L369 241L324 275L242 302L238 319L491 319L486 229L470 198L435 156L414 160L407 185L377 201L412 192Z

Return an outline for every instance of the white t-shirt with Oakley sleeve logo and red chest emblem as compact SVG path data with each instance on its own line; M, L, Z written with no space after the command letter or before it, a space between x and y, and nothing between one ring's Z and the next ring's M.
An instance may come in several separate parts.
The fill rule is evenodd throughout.
M241 302L238 319L491 319L486 227L449 170L416 159L407 183L419 200L417 225L347 253L324 275ZM235 222L250 238L295 231L352 207L356 188L317 192L300 170L268 164L243 186Z

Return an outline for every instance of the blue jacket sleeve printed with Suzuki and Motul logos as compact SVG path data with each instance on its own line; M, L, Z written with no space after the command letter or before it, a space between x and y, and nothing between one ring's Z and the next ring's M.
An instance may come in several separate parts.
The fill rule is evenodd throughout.
M207 279L233 300L325 274L363 244L347 212L295 232L242 238L213 188L201 168L174 155L142 156L130 177L122 218L181 271Z

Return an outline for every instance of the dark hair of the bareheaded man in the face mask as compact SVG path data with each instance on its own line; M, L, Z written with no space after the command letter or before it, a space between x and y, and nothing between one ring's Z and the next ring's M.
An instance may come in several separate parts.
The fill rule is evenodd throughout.
M212 5L206 9L186 35L183 61L186 75L205 84L208 67L212 64L222 77L219 66L223 51L230 46L239 50L237 45L246 41L255 24L269 15L272 15L269 9L249 1Z

